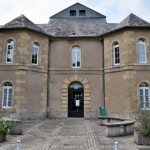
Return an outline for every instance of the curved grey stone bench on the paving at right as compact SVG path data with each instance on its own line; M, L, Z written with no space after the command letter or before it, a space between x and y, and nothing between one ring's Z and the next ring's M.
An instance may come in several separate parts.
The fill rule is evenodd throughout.
M134 133L134 120L99 116L100 125L106 126L107 137L117 137Z

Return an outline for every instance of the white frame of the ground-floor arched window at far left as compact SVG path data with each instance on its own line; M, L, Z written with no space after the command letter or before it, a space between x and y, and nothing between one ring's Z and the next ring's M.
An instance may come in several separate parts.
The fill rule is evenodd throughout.
M13 96L13 88L12 84L9 83L10 85L3 85L3 95L2 95L2 108L11 108L12 106L12 96ZM5 95L5 90L6 90L6 95ZM10 94L11 90L11 94ZM4 99L6 98L6 100ZM6 105L4 105L4 101L6 101ZM9 106L9 101L11 102L11 105Z

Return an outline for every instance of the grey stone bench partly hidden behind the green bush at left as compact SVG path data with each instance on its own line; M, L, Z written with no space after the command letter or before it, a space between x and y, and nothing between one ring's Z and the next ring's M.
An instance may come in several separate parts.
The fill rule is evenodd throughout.
M13 120L14 123L13 123L12 127L10 128L9 134L22 135L22 121L21 120L11 119L11 118L7 118L7 117L2 117L0 120L6 120L6 121Z

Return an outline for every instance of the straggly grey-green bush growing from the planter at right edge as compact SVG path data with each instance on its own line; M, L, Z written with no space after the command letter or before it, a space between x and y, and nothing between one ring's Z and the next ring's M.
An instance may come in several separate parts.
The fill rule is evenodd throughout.
M136 120L138 122L136 131L140 132L143 136L150 135L150 110L138 110Z

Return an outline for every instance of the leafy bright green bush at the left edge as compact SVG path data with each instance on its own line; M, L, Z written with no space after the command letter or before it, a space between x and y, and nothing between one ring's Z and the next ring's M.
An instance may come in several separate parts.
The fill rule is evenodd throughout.
M0 134L6 135L13 123L13 120L0 120Z

